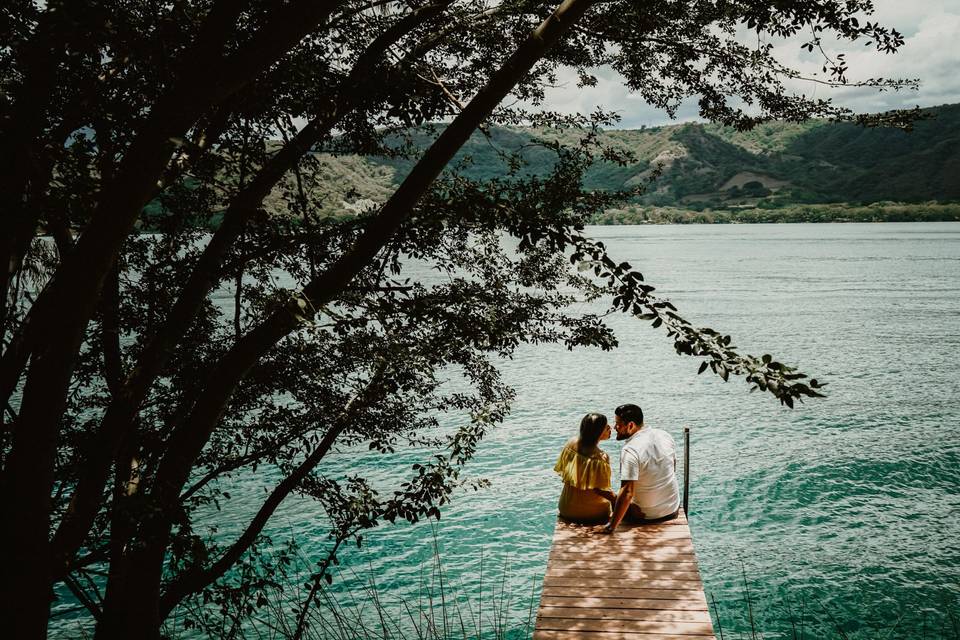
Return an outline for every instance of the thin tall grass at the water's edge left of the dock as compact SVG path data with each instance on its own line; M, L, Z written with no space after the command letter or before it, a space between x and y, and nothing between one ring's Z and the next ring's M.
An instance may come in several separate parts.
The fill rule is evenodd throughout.
M213 638L521 640L532 636L542 575L531 578L529 590L518 587L511 579L509 556L493 559L483 550L478 582L464 584L459 577L452 578L448 569L435 532L430 557L420 565L417 582L408 586L406 595L388 595L372 566L365 571L336 567L332 585L307 582L310 562L301 557L287 584L264 589L256 609L213 611L207 607L194 610L191 618L202 621L196 630L202 637ZM183 629L167 631L177 638L196 636Z

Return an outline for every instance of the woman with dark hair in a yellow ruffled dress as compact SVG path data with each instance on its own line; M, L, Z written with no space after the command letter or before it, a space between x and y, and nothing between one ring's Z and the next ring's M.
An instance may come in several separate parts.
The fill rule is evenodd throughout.
M594 524L610 519L610 456L597 446L610 437L607 417L588 413L580 421L580 437L571 438L553 470L563 479L560 517Z

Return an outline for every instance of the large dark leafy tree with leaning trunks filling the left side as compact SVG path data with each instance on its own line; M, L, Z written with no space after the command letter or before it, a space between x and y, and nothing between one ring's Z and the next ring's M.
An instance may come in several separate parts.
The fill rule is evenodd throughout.
M598 142L610 115L500 105L508 95L538 104L561 67L587 85L606 65L669 113L699 96L704 117L739 128L817 116L906 125L910 113L868 118L791 95L783 82L797 74L772 47L735 38L742 24L773 36L810 29L812 50L832 30L896 51L900 34L861 23L870 11L835 0L5 7L0 495L10 525L0 541L16 550L0 578L7 625L45 635L51 588L63 582L99 636L156 637L184 598L215 588L294 491L328 509L331 560L383 519L438 517L507 410L492 358L523 342L616 344L601 317L564 312L561 284L665 326L678 353L703 358L701 372L742 375L789 406L818 396L815 380L690 325L583 235L592 212L633 195L581 187L595 156L627 161ZM842 57L827 65L825 82L848 84ZM388 134L445 118L385 202L356 218L316 215L325 185L315 149L411 153ZM524 176L519 158L484 182L441 174L485 123L543 130L551 174ZM577 140L550 134L564 129ZM447 280L404 280L411 261ZM231 292L231 313L217 291ZM472 392L449 392L450 371ZM437 434L439 412L459 412L463 427ZM437 454L384 498L362 478L322 475L343 441ZM281 480L246 531L223 547L196 536L191 515L218 499L218 480L258 466ZM77 580L91 567L107 569L102 606Z

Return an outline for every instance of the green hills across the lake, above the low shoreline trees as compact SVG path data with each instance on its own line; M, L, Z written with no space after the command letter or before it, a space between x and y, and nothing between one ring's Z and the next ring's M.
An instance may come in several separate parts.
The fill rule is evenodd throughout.
M617 190L644 184L659 166L661 175L634 204L704 211L960 202L960 105L926 113L931 118L918 122L912 132L824 121L773 122L749 132L713 124L611 130L602 134L604 141L631 151L636 162L626 167L598 162L588 171L585 185ZM414 147L425 148L441 127L432 133L410 132ZM504 153L519 152L522 172L543 175L554 155L535 142L558 135L492 128L489 136L474 134L450 167L472 178L491 178L507 170ZM562 135L573 140L573 133ZM337 194L344 194L344 205L354 210L358 203L382 201L413 166L409 159L318 155L331 181L349 182L331 185L331 214Z

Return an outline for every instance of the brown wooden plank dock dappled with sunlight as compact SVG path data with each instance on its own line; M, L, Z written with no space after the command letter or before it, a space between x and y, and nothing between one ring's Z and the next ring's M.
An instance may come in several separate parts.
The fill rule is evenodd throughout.
M534 640L714 638L690 527L557 522Z

